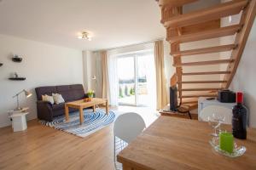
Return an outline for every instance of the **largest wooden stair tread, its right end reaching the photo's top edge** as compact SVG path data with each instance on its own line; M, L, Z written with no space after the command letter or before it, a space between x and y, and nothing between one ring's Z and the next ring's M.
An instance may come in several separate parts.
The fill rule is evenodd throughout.
M210 8L204 8L187 14L171 17L166 20L164 26L172 28L191 26L203 21L216 20L225 16L239 14L240 11L246 7L247 3L247 0L220 3Z

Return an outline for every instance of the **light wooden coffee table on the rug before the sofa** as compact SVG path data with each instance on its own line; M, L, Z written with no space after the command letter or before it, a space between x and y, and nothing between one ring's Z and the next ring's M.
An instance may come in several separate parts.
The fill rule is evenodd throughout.
M91 101L85 102L84 99L79 99L76 101L68 102L65 104L65 116L66 121L69 121L69 111L68 108L75 108L79 110L79 117L80 117L80 124L84 122L84 108L92 107L93 112L96 110L96 105L106 104L106 114L108 114L108 99L100 99L100 98L93 98Z

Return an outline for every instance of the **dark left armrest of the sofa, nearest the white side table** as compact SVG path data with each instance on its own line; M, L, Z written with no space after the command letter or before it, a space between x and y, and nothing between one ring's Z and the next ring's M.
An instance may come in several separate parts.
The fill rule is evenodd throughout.
M53 112L52 105L49 102L39 100L37 102L38 108L38 119L52 122L53 121Z

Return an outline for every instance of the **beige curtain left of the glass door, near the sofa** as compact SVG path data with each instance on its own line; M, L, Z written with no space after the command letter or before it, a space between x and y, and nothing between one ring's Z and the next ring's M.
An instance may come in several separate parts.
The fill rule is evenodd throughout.
M107 51L101 51L102 58L102 98L109 100L109 82L108 82L108 54Z

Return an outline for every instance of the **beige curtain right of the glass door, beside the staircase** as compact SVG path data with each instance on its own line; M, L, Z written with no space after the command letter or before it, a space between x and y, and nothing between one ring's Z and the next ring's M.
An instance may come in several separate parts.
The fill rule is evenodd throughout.
M156 74L156 108L160 110L168 104L163 41L154 42L154 62Z

